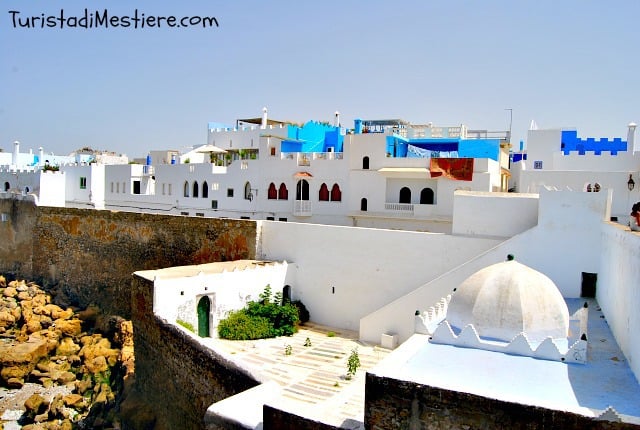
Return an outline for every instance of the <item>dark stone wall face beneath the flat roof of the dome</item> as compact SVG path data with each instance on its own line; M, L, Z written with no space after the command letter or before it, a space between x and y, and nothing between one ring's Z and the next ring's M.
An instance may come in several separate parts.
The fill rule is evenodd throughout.
M570 412L488 399L367 373L365 428L382 429L640 429Z

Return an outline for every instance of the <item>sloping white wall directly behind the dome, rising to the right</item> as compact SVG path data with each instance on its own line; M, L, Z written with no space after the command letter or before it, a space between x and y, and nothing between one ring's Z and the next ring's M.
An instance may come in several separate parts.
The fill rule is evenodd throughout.
M500 199L499 196L494 199ZM487 197L480 195L477 198ZM507 254L515 255L519 262L551 278L563 297L580 297L582 272L598 273L601 270L600 230L608 219L609 199L606 192L542 190L537 226L496 244L455 270L441 272L442 276L432 282L365 316L360 321L360 338L379 342L382 334L397 334L400 341L408 339L414 329L415 310L423 311L434 306L467 277L486 266L504 261ZM535 211L527 199L518 201ZM499 203L496 202L496 206Z

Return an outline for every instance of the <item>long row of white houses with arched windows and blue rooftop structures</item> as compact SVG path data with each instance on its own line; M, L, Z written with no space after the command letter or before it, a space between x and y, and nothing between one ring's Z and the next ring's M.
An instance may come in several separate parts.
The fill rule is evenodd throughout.
M401 120L296 126L264 112L210 124L207 144L180 155L61 169L72 207L450 232L454 190L506 191L505 137Z

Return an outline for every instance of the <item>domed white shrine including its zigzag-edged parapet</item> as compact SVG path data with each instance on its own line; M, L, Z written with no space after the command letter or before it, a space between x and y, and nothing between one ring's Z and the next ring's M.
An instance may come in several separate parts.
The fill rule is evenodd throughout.
M434 343L586 361L587 308L570 317L554 282L513 259L469 276L445 307Z

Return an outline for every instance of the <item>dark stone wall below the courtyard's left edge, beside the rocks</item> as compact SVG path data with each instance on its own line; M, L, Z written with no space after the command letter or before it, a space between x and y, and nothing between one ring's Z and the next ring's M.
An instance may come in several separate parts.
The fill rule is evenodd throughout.
M132 321L134 392L156 417L155 429L202 429L207 408L258 384L251 375L153 314L153 282L135 277Z

